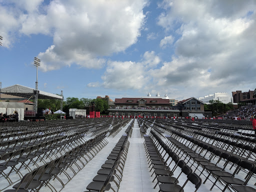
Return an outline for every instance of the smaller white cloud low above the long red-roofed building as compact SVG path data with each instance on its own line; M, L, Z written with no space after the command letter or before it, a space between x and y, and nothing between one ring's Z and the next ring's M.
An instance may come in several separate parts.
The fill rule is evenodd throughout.
M103 82L90 82L87 86L102 86L104 88L145 89L150 81L149 71L160 63L160 57L154 51L146 51L139 62L107 61L107 67L101 76Z

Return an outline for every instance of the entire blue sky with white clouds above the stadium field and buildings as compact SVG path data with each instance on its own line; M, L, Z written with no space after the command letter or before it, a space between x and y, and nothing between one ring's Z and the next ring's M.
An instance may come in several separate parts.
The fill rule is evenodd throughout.
M66 97L256 88L255 0L0 0L0 81Z

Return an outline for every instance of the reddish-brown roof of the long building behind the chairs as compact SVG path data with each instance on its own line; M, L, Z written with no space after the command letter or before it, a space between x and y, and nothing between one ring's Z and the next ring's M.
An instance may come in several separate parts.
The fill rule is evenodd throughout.
M116 98L114 104L137 104L138 100L145 100L146 104L170 104L169 99L163 98L148 98L148 97L140 97L140 98ZM128 102L130 101L130 102Z

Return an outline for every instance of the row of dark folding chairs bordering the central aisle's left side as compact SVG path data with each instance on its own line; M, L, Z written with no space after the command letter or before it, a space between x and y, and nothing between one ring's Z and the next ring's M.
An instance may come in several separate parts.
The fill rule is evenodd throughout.
M131 129L129 131L131 131ZM97 171L97 175L94 176L92 182L86 186L88 191L107 191L110 188L115 191L110 183L112 181L116 184L117 190L119 189L128 147L128 134L122 135L107 156L107 160ZM118 181L115 180L115 177L118 179Z

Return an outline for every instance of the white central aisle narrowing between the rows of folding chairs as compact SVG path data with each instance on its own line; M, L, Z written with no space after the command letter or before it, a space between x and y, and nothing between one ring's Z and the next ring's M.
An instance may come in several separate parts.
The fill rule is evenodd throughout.
M158 191L157 189L153 189L152 177L150 177L143 147L144 138L140 137L137 119L134 121L132 135L128 140L130 141L130 145L119 191Z

